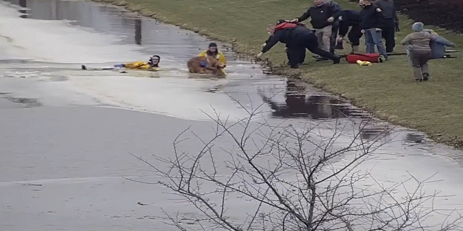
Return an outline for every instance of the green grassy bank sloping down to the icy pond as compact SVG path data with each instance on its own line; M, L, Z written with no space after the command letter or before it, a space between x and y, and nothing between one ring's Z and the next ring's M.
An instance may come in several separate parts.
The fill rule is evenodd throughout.
M309 0L103 0L130 10L140 11L166 23L190 29L213 39L234 45L238 52L256 54L268 34L266 26L278 18L292 19L302 14ZM358 9L347 0L335 1L343 8ZM307 24L309 22L306 21ZM411 32L411 21L401 17L397 41ZM427 27L430 28L430 27ZM463 45L463 36L437 31L450 41ZM346 48L348 46L345 45ZM278 44L262 58L278 66L286 61L284 46ZM396 51L404 51L401 45ZM338 53L347 53L348 50ZM456 53L456 55L463 55ZM457 59L431 61L431 80L415 82L406 56L391 56L384 64L359 66L342 63L315 62L308 55L298 70L274 68L277 73L300 75L308 82L340 94L355 105L375 108L378 117L390 122L417 128L443 143L463 147L463 62Z

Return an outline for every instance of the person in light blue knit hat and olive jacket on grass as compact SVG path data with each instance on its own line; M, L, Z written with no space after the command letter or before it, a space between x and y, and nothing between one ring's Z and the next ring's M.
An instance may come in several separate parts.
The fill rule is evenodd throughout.
M436 35L423 31L423 27L421 22L414 23L414 32L401 41L402 45L407 45L415 80L420 82L429 79L428 61L432 59L430 43L436 40Z

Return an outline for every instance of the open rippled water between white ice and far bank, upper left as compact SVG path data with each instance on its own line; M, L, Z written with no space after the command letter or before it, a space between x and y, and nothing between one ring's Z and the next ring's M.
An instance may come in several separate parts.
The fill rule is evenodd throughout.
M93 28L97 32L120 37L118 44L137 44L141 52L169 57L185 62L198 49L207 47L208 41L195 34L178 36L176 27L159 25L155 20L143 18L131 12L109 5L88 4L87 2L60 0L5 0L15 5L26 6L30 10L27 18L38 20L66 20L70 25ZM143 27L143 29L142 29ZM175 45L175 49L166 49ZM225 54L233 59L233 53Z

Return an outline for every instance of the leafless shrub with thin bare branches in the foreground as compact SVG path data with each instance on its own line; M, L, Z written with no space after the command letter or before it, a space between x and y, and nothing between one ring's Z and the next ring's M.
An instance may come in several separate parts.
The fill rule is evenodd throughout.
M377 158L391 130L364 140L361 133L371 120L343 119L298 129L287 122L265 121L259 108L248 109L247 118L233 123L218 113L211 116L215 127L209 140L194 132L188 136L186 129L175 139L171 158L154 155L156 164L151 164L137 157L164 179L155 184L200 211L192 218L195 228L166 213L172 225L180 230L458 229L461 216L429 224L444 212L433 207L439 192L424 192L432 176L419 180L409 175L406 181L385 185L360 169L363 162ZM181 144L191 138L198 140L200 150L181 151ZM219 140L233 147L217 145ZM239 202L245 202L238 211L241 219L228 209ZM253 210L247 210L250 206ZM447 218L455 214L447 212Z

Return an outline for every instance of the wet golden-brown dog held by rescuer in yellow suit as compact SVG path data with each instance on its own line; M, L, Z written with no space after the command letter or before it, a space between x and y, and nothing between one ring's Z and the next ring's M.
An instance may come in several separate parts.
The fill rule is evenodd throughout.
M204 61L206 62L206 67L201 67L201 62ZM217 77L225 76L223 68L225 68L226 65L220 63L217 59L215 59L215 57L192 57L190 60L188 60L187 66L190 73L213 74Z

